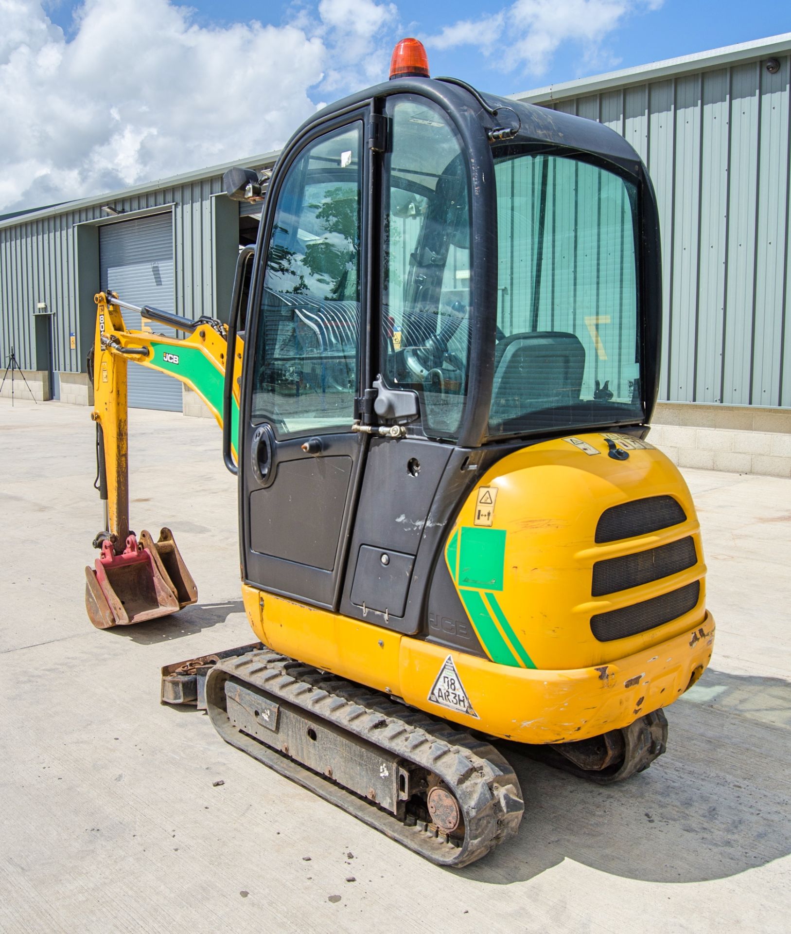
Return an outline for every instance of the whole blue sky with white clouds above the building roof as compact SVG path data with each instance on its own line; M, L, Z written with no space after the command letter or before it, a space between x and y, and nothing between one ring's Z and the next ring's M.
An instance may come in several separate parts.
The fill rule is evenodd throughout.
M791 32L791 0L0 0L0 213L279 149L387 78L515 93Z

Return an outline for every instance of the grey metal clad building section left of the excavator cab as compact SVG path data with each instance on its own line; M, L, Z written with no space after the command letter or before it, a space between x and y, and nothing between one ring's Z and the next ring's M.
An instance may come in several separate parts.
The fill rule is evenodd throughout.
M241 164L271 166L275 156L267 153ZM69 396L59 393L59 388L66 384L71 388L77 380L82 389L78 399L88 402L87 378L70 375L84 375L86 371L96 317L93 295L100 285L106 285L102 276L103 245L106 263L116 263L114 275L120 276L119 283L127 285L130 279L118 268L119 258L126 253L127 264L134 265L135 249L142 249L144 254L147 249L154 250L137 263L138 273L148 266L148 284L152 287L144 297L142 287L146 282L137 276L135 288L139 294L135 291L135 295L140 304L161 301L166 310L189 318L227 316L244 224L239 205L221 190L222 173L227 167L219 165L0 219L0 354L4 369L7 354L14 347L23 370L49 369L56 375L54 386L50 382L56 398ZM158 245L145 239L141 244L141 233L154 227ZM169 244L167 255L162 254L162 236ZM158 262L152 262L157 258ZM158 277L161 286L157 285ZM113 285L113 275L109 284ZM135 304L134 299L130 300ZM158 377L147 372L141 378L148 379L151 389L150 381ZM177 397L168 386L163 391L170 392L173 398L162 399L156 407L180 410L180 386L166 377L159 378L174 383ZM78 400L69 396L69 401ZM156 402L150 398L142 403L130 399L134 404L152 401Z

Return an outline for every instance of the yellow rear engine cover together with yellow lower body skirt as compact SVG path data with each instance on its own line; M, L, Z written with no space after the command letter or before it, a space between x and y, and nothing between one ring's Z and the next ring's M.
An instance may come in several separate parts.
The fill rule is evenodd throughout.
M614 446L629 457L611 457ZM622 536L620 512L602 519L634 502L644 529L637 501L656 498L678 521ZM627 435L546 441L498 461L448 530L445 560L487 658L246 586L247 615L276 651L523 743L626 727L676 700L711 658L689 491L670 460Z

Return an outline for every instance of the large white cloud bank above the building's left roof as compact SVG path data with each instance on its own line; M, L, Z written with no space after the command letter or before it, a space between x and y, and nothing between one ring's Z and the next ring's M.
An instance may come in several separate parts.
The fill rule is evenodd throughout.
M41 3L0 0L0 212L282 146L312 89L387 67L372 56L391 4L310 12L211 28L168 0L86 0L66 37Z

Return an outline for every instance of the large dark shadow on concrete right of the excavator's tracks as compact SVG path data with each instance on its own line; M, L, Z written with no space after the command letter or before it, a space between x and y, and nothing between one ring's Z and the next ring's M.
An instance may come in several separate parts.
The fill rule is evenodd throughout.
M515 842L465 870L522 882L564 859L645 882L727 878L791 853L791 683L709 669L667 711L668 752L600 787L515 753Z

